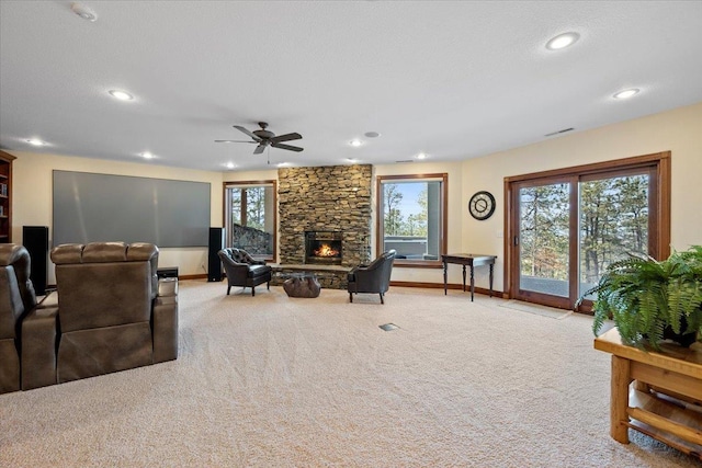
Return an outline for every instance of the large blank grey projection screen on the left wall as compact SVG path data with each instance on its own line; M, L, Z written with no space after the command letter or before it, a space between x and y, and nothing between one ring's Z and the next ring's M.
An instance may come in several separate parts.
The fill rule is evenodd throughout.
M203 247L208 183L54 171L54 246L101 241Z

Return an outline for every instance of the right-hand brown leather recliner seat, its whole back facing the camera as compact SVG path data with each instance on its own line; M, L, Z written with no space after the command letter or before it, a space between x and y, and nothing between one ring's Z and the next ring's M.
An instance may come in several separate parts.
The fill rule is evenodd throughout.
M178 357L178 279L158 279L158 253L151 243L124 242L52 250L58 383Z

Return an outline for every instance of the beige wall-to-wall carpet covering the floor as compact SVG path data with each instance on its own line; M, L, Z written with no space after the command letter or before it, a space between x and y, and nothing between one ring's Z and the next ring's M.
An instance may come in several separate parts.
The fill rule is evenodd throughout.
M0 466L701 466L610 438L589 317L441 289L225 290L181 282L176 362L0 396Z

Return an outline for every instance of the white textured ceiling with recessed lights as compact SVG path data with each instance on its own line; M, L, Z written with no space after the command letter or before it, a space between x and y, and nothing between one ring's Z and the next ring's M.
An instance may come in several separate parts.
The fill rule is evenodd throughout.
M702 101L700 1L82 4L98 21L0 2L0 148L205 170L449 161ZM580 41L545 49L567 31ZM641 93L612 99L625 88ZM214 142L259 121L305 150Z

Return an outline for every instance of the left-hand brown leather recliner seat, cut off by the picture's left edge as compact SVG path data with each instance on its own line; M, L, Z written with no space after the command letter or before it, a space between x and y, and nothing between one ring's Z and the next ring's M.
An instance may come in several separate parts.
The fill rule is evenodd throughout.
M24 247L0 244L0 393L56 384L57 308L36 304L30 266Z

